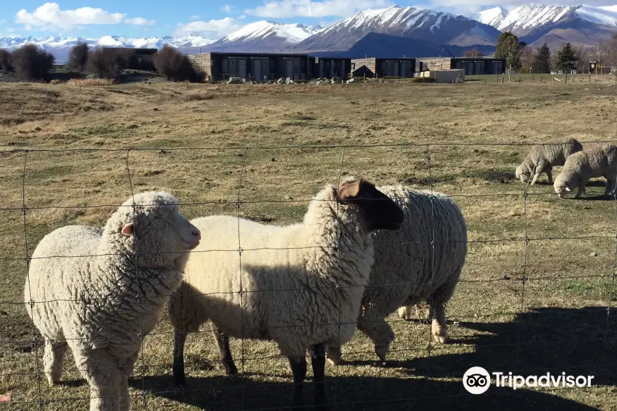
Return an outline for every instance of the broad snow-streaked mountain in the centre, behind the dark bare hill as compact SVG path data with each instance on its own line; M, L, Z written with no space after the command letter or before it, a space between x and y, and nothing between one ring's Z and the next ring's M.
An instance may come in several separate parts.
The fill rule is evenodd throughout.
M298 49L347 50L367 33L459 46L494 45L500 34L494 27L464 16L394 5L359 12L300 42Z

